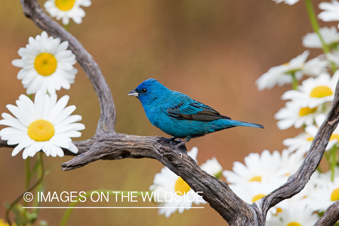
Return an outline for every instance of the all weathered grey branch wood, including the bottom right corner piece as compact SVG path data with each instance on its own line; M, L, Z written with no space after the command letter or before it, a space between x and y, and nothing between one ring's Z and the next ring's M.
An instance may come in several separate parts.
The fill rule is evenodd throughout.
M26 17L49 35L69 42L69 49L77 57L92 83L100 102L100 119L96 134L88 140L73 142L79 152L74 154L64 149L65 155L77 155L63 163L62 170L82 167L99 159L114 160L122 158L152 158L167 166L195 191L203 191L205 201L220 213L231 226L265 224L268 209L284 199L291 198L305 186L319 164L328 140L339 120L339 85L337 84L334 102L325 122L313 140L304 162L299 170L288 178L287 183L250 205L241 200L228 185L201 170L196 162L187 155L184 145L171 149L178 141L159 141L159 137L126 135L115 132L115 106L109 89L98 64L84 49L81 43L57 22L46 15L36 0L24 0L23 11ZM0 147L15 147L0 141ZM182 157L181 157L182 156ZM331 208L331 209L330 209ZM338 215L338 201L332 205L316 225L333 225ZM331 218L331 219L330 219ZM332 219L333 218L333 219ZM333 223L333 224L332 224Z

